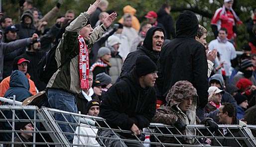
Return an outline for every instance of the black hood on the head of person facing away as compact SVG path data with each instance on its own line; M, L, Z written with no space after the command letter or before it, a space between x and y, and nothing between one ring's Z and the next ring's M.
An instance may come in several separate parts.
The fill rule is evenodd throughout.
M199 22L194 12L182 11L176 22L176 38L195 38L198 25Z

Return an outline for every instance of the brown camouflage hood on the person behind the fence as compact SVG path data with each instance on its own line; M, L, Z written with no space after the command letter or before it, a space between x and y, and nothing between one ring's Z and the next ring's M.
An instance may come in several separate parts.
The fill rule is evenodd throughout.
M187 98L193 97L192 107L196 107L198 95L193 85L184 80L176 82L169 90L166 101L170 105L179 104ZM174 102L175 101L175 102Z

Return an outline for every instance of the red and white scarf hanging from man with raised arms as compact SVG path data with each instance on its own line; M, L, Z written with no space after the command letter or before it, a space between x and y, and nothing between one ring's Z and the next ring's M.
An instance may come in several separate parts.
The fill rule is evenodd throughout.
M79 35L79 75L81 89L89 89L89 53L84 38Z

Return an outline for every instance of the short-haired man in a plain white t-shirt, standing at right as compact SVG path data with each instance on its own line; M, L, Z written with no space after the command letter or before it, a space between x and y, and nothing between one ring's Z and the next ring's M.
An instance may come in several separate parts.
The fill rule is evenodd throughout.
M218 33L217 39L209 43L209 49L217 49L220 53L220 63L224 62L224 70L226 73L226 83L229 81L231 75L231 60L237 57L236 49L232 43L227 39L228 32L227 29L221 28Z

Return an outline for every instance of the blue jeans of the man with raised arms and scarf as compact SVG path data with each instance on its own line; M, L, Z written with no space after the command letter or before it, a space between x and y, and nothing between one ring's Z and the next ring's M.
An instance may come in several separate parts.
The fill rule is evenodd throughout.
M76 98L74 94L60 90L60 89L49 89L48 90L48 102L51 108L69 111L77 113ZM65 117L64 117L65 116ZM69 123L75 123L75 120L70 115L61 115L56 113L54 115L56 121L63 121ZM66 120L67 119L67 120ZM68 124L61 124L59 126L63 132L74 133L76 126L70 127ZM74 135L65 135L70 143L73 142Z

